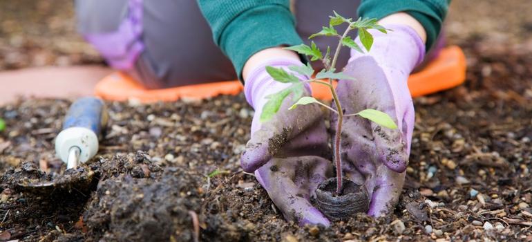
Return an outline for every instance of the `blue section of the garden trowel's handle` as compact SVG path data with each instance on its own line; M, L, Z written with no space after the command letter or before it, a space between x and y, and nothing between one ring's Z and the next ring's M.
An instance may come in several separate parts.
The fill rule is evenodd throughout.
M63 129L82 127L91 129L100 136L102 118L104 118L104 102L96 97L82 97L76 100L66 113Z

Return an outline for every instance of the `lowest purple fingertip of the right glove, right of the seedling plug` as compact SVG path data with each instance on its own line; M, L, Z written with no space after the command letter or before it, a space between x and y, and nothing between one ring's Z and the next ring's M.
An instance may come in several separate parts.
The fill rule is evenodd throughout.
M382 216L392 210L399 201L406 173L397 173L381 165L377 174L366 180L365 187L370 197L370 216Z

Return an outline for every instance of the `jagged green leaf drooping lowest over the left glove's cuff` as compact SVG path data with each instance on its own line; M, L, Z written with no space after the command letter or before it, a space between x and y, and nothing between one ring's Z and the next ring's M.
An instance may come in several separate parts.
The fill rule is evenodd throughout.
M303 84L301 82L294 83L292 86L289 86L278 93L268 95L266 97L268 101L264 104L263 113L260 113L260 122L267 122L272 119L277 111L279 111L279 108L281 108L283 100L285 100L290 93L293 93L292 100L298 100L299 97L303 95Z

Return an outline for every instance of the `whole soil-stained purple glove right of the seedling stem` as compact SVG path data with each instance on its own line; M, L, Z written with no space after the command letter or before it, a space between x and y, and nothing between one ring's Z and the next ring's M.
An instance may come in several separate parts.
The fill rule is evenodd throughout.
M412 28L384 27L392 31L383 34L369 30L374 37L369 53L351 50L344 73L356 80L341 80L336 87L345 114L377 109L388 113L398 127L379 127L358 116L344 118L343 172L355 183L365 184L371 199L368 211L371 216L392 210L403 188L415 118L407 80L425 53L423 41ZM333 113L333 131L336 120Z

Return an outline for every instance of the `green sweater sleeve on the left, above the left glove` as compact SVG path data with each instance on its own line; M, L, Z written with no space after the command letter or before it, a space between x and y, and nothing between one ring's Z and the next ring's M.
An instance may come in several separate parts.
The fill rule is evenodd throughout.
M233 62L238 78L251 55L303 43L288 0L198 0L214 42Z

